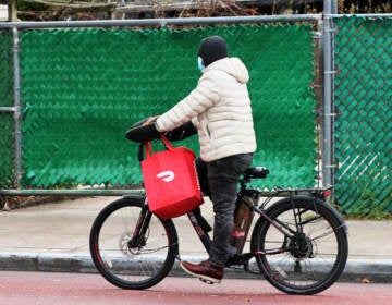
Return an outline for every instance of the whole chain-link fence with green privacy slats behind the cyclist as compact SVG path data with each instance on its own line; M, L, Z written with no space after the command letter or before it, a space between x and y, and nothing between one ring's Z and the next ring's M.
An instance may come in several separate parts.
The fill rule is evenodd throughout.
M44 192L59 185L119 190L138 184L136 145L124 132L186 96L199 77L195 57L200 39L221 35L231 56L249 69L258 143L254 163L271 170L259 186L335 182L343 211L390 212L391 16L333 17L335 44L329 56L338 73L317 98L318 80L334 74L318 65L329 52L322 46L333 29L323 30L323 16L260 16L241 24L215 20L221 25L199 26L205 19L188 19L175 28L168 20L140 23L138 29L135 21L105 23L105 28L98 22L24 23L20 50L8 30L0 32L0 124L8 131L0 135L3 194L15 186ZM38 29L42 24L54 29ZM21 69L21 82L14 84L12 61ZM20 143L12 107L19 88ZM196 142L181 144L197 150ZM23 154L14 159L19 146ZM338 163L331 180L326 179ZM317 180L321 175L322 183Z

